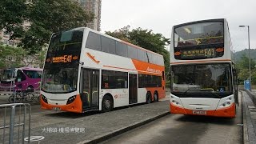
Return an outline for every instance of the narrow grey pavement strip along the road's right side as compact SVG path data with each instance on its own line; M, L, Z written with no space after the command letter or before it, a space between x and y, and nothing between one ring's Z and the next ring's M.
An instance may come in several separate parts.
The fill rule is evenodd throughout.
M242 91L243 134L245 144L256 143L256 107L246 91Z

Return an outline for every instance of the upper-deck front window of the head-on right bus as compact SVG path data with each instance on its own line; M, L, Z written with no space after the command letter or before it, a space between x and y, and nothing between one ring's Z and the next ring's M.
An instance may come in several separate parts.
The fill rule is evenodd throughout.
M205 22L174 30L174 47L223 43L223 23Z

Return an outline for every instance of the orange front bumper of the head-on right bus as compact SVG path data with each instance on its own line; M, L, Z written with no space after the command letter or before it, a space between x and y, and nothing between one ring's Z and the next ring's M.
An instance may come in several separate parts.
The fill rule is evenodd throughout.
M206 114L194 114L193 110L185 109L180 106L175 106L170 102L170 113L171 114L187 114L187 115L206 115L214 117L226 117L235 118L236 113L235 103L231 104L229 107L217 109L217 110L206 110Z

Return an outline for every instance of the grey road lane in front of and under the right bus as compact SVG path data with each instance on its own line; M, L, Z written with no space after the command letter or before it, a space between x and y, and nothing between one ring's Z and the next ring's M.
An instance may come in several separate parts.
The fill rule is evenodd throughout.
M241 102L241 101L240 101ZM236 118L170 114L105 142L115 143L242 143L242 105Z

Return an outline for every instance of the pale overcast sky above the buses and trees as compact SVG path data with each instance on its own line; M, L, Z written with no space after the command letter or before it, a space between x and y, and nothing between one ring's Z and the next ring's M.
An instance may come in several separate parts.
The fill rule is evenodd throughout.
M238 26L250 26L250 49L256 49L255 0L102 0L101 29L129 25L170 38L174 25L211 18L227 19L235 51L248 48L247 28Z

